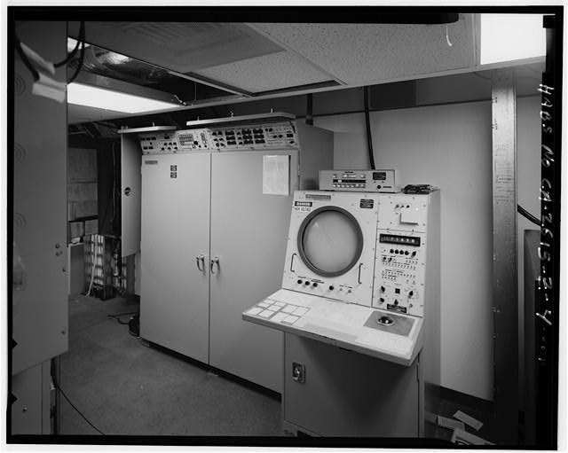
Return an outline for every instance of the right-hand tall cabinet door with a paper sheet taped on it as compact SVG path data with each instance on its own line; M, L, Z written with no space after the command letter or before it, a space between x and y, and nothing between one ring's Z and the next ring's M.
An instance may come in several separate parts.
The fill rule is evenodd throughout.
M263 194L266 154L290 156L288 196ZM282 333L250 324L241 313L280 289L297 153L234 152L212 156L209 363L281 391Z

